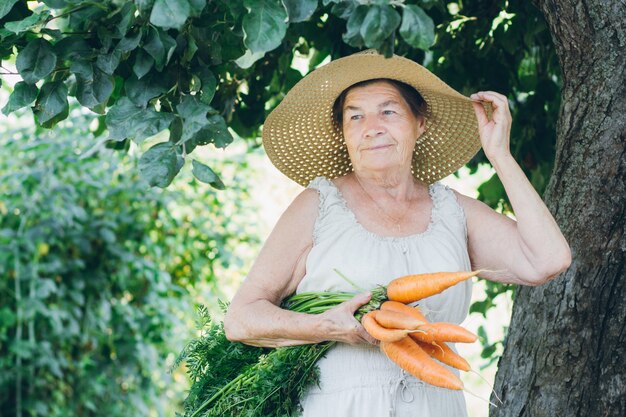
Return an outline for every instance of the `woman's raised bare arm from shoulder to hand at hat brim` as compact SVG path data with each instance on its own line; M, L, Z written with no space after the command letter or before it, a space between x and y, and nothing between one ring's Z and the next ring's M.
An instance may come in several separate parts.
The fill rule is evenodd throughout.
M516 284L539 285L567 269L571 252L552 214L509 151L511 114L507 98L487 91L472 98L491 102L488 120L475 103L481 143L511 202L517 221L487 205L460 196L466 213L472 268L498 270L485 278Z

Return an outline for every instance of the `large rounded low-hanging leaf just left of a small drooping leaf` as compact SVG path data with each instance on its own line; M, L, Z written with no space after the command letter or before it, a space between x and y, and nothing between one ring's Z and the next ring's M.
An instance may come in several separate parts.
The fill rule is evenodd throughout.
M180 171L182 157L171 142L157 143L139 159L139 171L150 186L165 188Z

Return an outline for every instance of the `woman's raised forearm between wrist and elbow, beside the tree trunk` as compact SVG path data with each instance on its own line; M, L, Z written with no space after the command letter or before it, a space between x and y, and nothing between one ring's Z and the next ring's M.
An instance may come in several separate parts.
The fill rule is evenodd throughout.
M492 161L517 219L519 244L539 274L554 276L571 263L571 252L552 214L510 156Z

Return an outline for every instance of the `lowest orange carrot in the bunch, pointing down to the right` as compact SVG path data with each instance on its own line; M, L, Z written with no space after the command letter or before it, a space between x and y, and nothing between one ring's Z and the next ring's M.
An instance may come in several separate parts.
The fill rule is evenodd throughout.
M422 381L441 388L463 389L463 382L443 365L435 362L411 338L382 342L380 349L396 365Z

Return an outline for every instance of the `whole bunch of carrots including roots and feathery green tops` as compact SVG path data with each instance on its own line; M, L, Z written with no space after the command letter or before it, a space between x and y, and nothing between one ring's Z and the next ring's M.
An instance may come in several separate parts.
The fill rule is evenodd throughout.
M355 288L347 277L336 271ZM437 272L409 275L388 286L371 290L370 301L361 306L355 318L380 348L396 364L432 385L463 389L461 381L432 358L458 369L469 370L467 362L445 343L470 342L476 336L450 323L428 323L419 309L406 304L419 301L466 279L475 272ZM354 297L352 292L302 292L288 297L282 308L307 314L320 314ZM229 342L221 324L193 340L179 361L188 358L193 385L185 400L186 417L297 414L299 395L317 382L316 362L336 342L260 349ZM225 366L241 368L224 378ZM467 391L467 390L466 390Z

